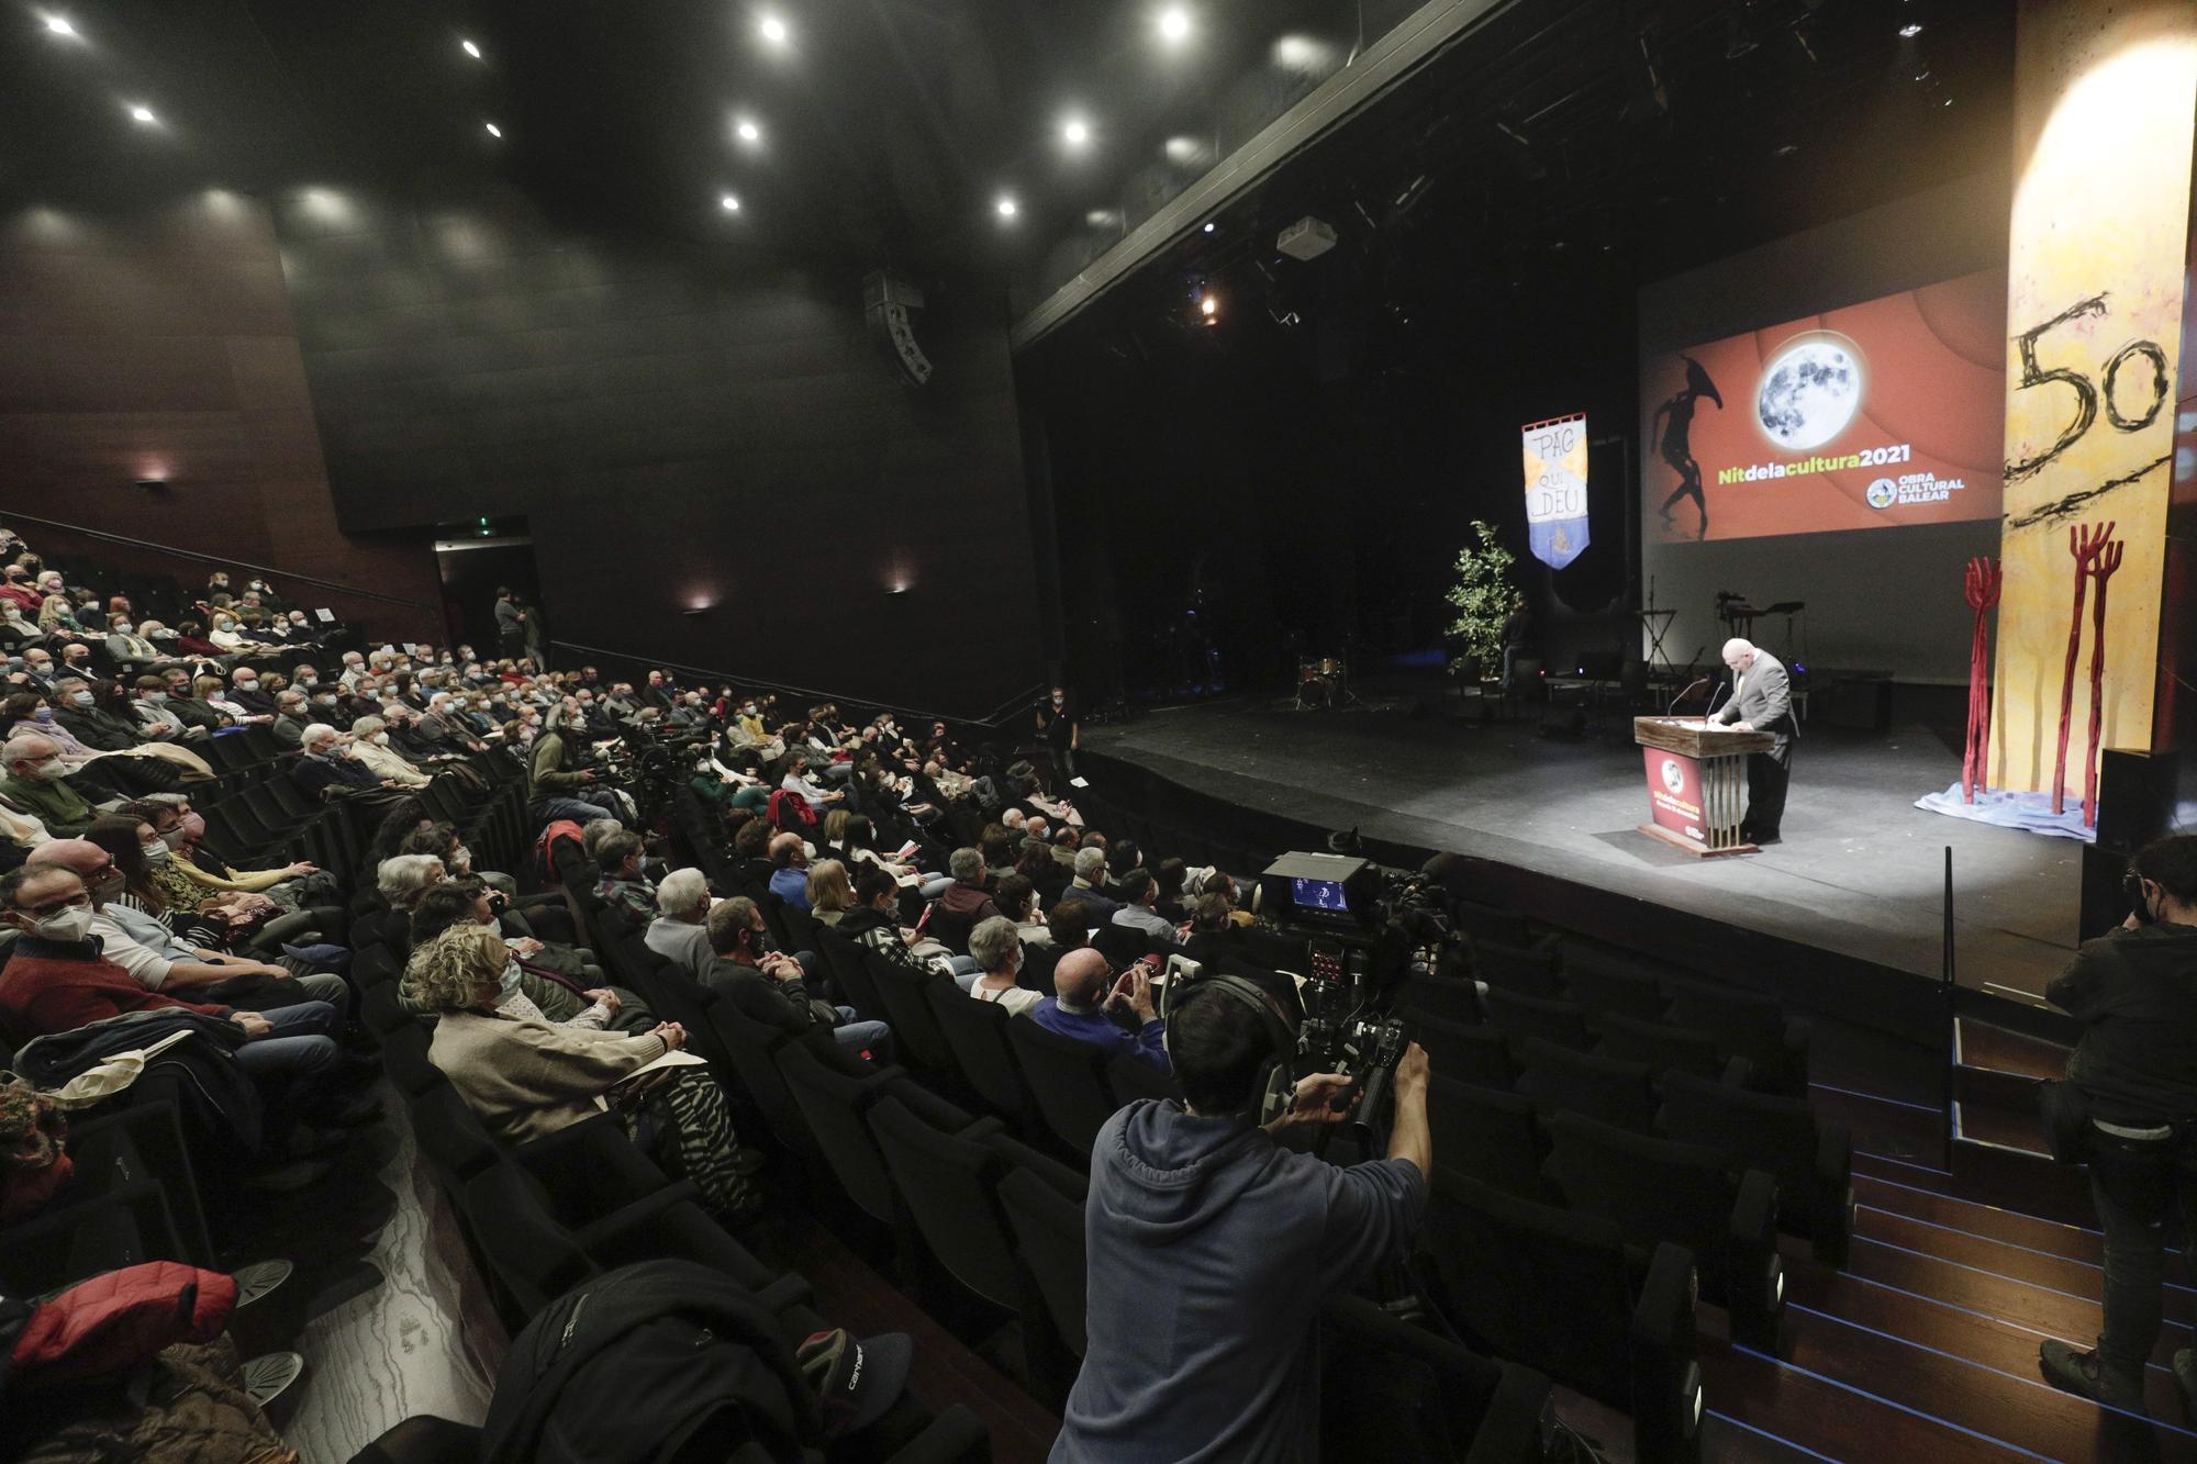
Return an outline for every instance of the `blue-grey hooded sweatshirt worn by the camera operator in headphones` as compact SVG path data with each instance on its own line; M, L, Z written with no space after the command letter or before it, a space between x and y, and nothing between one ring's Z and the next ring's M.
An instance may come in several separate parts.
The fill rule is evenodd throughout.
M1329 1165L1259 1128L1129 1103L1085 1202L1090 1347L1055 1464L1320 1453L1320 1304L1406 1253L1426 1176Z

